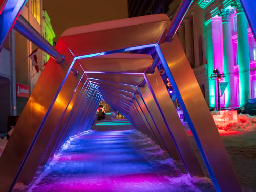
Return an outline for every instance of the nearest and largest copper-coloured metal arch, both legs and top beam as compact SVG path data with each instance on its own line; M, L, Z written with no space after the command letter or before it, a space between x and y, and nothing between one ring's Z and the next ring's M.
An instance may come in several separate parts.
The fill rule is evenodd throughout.
M113 26L114 24L115 26L119 25L119 27L116 28L115 26ZM208 168L210 177L214 182L216 189L222 190L222 191L229 191L229 190L241 191L241 187L236 178L236 174L234 174L233 170L230 169L232 168L231 163L227 157L225 148L220 140L220 136L217 134L218 132L214 125L214 122L212 121L212 118L210 120L211 116L208 112L208 107L205 105L204 103L205 101L203 101L203 95L200 92L199 86L197 85L197 81L194 77L193 71L191 70L188 61L184 60L185 54L180 48L181 46L180 46L179 40L177 40L177 38L174 38L174 40L170 43L162 43L160 41L161 37L163 37L166 34L167 29L170 25L170 22L167 16L151 15L151 16L124 19L124 20L121 19L121 20L105 22L97 25L99 27L98 30L92 31L93 26L73 28L66 31L62 35L61 39L57 44L57 50L63 55L65 55L65 58L68 58L68 61L66 60L66 62L60 66L60 65L57 65L55 61L50 60L51 65L48 64L46 66L47 70L43 71L41 77L38 80L38 84L36 85L31 95L31 98L29 99L29 103L26 105L25 111L23 112L16 126L23 127L28 123L25 121L29 118L36 121L35 125L29 124L26 126L26 129L23 129L22 131L24 131L24 133L27 133L29 130L31 131L31 128L33 127L37 127L40 131L41 126L43 126L42 124L44 124L49 118L50 110L53 109L54 107L54 102L56 101L56 98L58 97L62 86L64 86L65 84L65 80L67 79L68 74L70 73L70 70L73 67L74 60L79 60L86 57L110 54L110 53L115 53L120 51L141 49L143 47L155 47L159 54L161 62L164 63L167 76L169 77L169 79L172 79L172 83L174 84L174 87L179 96L178 97L179 102L182 103L183 109L185 111L185 115L187 115L186 117L187 119L189 119L190 128L191 130L193 130L193 135L197 141L198 148L205 159L205 164ZM112 28L111 28L111 25L112 25ZM108 29L106 29L106 27ZM91 31L86 31L86 30L89 30L89 28L91 29ZM143 34L143 36L140 34ZM102 37L104 37L104 39ZM103 43L98 44L97 42L103 42ZM80 44L81 46L77 46L78 45L77 43L78 44L81 43ZM88 45L91 45L91 46L88 46ZM75 55L75 58L73 57L73 55L70 53L69 50L72 51L72 53ZM172 52L170 52L170 50L172 50ZM57 70L54 70L54 69L57 69ZM179 74L181 72L185 73L187 75L187 78L181 79L179 77ZM49 76L50 77L53 76L51 77L53 78L51 80L52 82L54 82L55 80L56 84L49 85L48 83ZM102 76L106 76L106 75L102 74ZM118 80L118 78L120 78L120 80L123 80L120 74L115 74L115 76L116 76L116 80ZM122 74L122 76L125 76L125 74ZM94 77L96 77L96 79L100 79L100 77L98 77L97 75L95 75ZM135 79L132 80L132 83L134 84L134 86L138 85L139 80L141 80L141 78L139 77L136 77ZM111 78L107 79L107 81L110 82ZM46 84L46 82L48 84ZM130 84L131 81L125 81L125 83ZM192 86L190 86L189 83L191 83ZM47 101L42 101L41 98L37 98L37 97L41 97L39 93L43 92L41 90L42 89L41 85L50 87L50 92L47 93L46 95ZM196 96L195 97L196 100L191 100L191 97L189 97L189 94L191 92L190 91L188 92L187 90L192 90L193 95ZM148 113L145 116L147 120L150 121L151 111L150 112L146 111L146 106L144 105L140 95L138 94L134 94L134 95L138 101L138 104L143 110L144 114L146 112ZM92 98L92 94L89 94L89 96ZM41 109L46 109L46 111L42 110L40 113L36 113L36 111L32 111L35 113L30 113L30 108L33 109L32 104L35 104L32 99L38 102L38 104L41 107L44 107ZM195 113L193 111L193 106L196 105L198 107L201 104L202 104L202 108L200 110L202 111L202 113L200 113L199 115L199 113ZM198 110L199 109L197 108L197 111ZM204 119L208 119L209 122L200 122L201 120L200 116L203 116ZM154 126L154 122L152 122L151 126ZM208 126L208 129L207 130L203 129L206 126ZM20 149L20 146L18 145L19 145L19 142L22 142L22 139L17 137L17 135L20 133L19 129L16 129L13 132L13 135L10 138L6 146L6 149L4 150L2 156L0 157L0 170L1 170L0 179L4 181L3 182L4 185L0 187L1 189L3 189L3 191L11 189L13 183L15 183L15 178L19 174L20 165L22 165L23 162L26 162L28 160L27 155L31 154L31 149L33 148L33 145L34 145L33 139L36 140L38 137L38 134L36 131L37 130L33 130L32 132L30 132L29 139L27 139L27 146L25 146L25 148L20 150L20 153L19 153L20 156L17 159L15 159L15 162L10 159L10 157L12 157L13 155L12 153L9 153L9 152L10 150L13 150L13 149L14 149L13 152L16 152L18 149ZM209 135L210 133L214 133L214 134L211 135L211 138L209 139L207 138L207 135ZM17 140L14 142L14 139L15 140L17 139ZM160 141L163 141L161 140L161 138L159 139ZM215 150L214 150L214 153L212 154L209 152L209 149L212 150L212 148L215 148L215 146L218 146L218 150L221 151L221 154L222 154L222 155L219 155L219 159L218 159L219 161L222 160L221 166L219 163L214 162L214 159L216 158L213 156L213 155L216 155ZM204 149L205 151L202 149ZM43 150L46 150L46 149L43 149ZM8 162L7 164L5 163L5 167L3 166L3 162ZM222 170L220 170L220 167ZM5 179L6 177L5 174L9 175L8 180ZM31 174L31 173L28 173L28 174ZM229 177L226 177L226 175L229 175Z

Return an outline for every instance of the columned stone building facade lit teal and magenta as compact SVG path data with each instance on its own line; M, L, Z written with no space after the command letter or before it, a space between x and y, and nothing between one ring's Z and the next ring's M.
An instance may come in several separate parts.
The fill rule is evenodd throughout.
M178 36L209 107L218 106L217 81L209 78L215 68L228 82L222 108L256 98L256 43L239 0L195 1Z

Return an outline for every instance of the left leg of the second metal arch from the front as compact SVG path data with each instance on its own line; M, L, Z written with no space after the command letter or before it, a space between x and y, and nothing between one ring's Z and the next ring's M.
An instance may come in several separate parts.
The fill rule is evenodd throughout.
M81 68L79 70L81 71ZM63 114L69 110L67 106L70 104L75 93L75 88L79 82L80 78L77 78L77 76L69 74L67 77L60 92L58 93L56 101L52 106L49 117L41 127L40 134L35 140L34 146L31 149L30 154L27 156L27 160L24 163L23 168L20 170L17 182L22 182L26 185L31 182L31 176L36 172L41 161L41 156L45 154L53 135L57 131L59 122L62 121ZM46 135L49 136L47 137ZM34 171L33 174L31 173L32 171Z

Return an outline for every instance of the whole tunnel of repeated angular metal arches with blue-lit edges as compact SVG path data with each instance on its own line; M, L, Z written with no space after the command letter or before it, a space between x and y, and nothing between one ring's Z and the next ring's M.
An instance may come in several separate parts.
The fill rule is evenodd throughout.
M101 98L181 159L190 175L203 176L159 72L149 70L159 58L216 190L242 191L178 37L165 40L169 27L159 14L66 30L56 45L65 61L49 60L0 157L0 190L30 183L70 135L90 129ZM157 58L122 53L143 47L154 47Z

